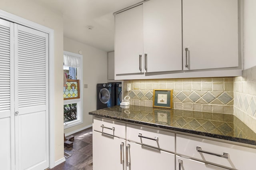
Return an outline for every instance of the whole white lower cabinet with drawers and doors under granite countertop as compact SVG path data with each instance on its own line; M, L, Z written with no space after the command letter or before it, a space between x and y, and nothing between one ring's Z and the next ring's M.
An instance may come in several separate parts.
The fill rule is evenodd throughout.
M240 144L94 117L93 170L255 169L256 148Z

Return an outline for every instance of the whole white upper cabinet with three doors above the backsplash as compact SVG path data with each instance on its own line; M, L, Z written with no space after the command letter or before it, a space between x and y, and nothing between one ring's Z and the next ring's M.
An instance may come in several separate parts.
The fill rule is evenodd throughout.
M148 0L115 14L115 79L241 76L240 4Z

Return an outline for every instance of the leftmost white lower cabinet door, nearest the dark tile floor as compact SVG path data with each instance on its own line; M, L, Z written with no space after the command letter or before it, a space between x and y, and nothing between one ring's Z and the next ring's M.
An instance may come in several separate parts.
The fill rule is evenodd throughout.
M93 170L124 170L125 140L93 132Z

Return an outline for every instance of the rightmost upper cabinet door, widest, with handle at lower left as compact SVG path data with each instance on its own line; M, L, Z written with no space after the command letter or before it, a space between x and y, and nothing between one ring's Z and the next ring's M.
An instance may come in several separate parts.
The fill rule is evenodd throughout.
M183 0L182 8L184 69L238 67L238 1Z

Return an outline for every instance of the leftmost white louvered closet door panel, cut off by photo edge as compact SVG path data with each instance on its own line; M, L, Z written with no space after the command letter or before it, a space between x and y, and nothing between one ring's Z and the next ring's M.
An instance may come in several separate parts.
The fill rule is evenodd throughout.
M0 169L3 170L10 170L14 166L14 136L11 135L14 134L11 128L14 122L14 88L11 87L14 36L10 32L13 32L13 23L0 19Z

